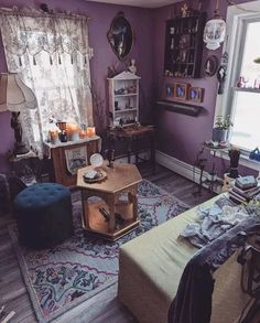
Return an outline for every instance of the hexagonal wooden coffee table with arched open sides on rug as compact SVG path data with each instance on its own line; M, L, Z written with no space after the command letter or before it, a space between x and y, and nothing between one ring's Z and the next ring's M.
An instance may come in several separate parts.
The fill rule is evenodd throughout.
M142 177L133 164L116 162L112 169L107 164L105 161L101 166L107 177L97 183L84 180L93 166L79 169L77 186L82 189L84 228L116 240L139 226L137 191Z

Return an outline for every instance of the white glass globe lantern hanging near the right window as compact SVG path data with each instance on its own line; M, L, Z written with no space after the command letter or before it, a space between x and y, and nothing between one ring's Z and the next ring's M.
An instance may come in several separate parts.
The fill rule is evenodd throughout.
M218 10L218 0L216 0L216 8L214 11L214 17L207 21L204 33L203 41L206 43L208 50L215 51L224 42L226 35L226 22L220 17Z

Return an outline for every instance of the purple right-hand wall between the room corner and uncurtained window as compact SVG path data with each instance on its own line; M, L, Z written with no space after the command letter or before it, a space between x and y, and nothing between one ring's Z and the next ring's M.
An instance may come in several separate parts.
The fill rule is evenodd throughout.
M197 9L198 2L201 1L189 1L189 7ZM225 18L227 11L226 1L220 1L221 7L219 9L220 14ZM243 1L245 2L245 1ZM202 11L207 12L207 20L213 17L215 9L215 1L204 1L202 6ZM174 18L180 14L180 8L183 3L175 3L172 6L163 7L156 10L154 17L155 34L153 51L154 55L154 79L156 84L158 97L163 98L163 93L165 91L165 84L171 83L187 83L195 87L205 88L204 101L198 104L204 107L204 111L198 117L191 117L185 115L175 114L172 111L159 109L154 106L154 115L158 116L159 125L159 150L162 152L174 157L181 161L189 164L194 164L196 161L196 155L202 149L202 143L205 140L210 140L212 129L214 123L215 104L218 89L217 76L205 77L203 73L203 66L206 57L209 55L217 55L221 57L223 47L217 51L209 51L205 47L203 50L202 60L202 78L176 78L176 77L165 77L163 76L163 61L164 61L164 40L165 40L165 21L167 19ZM209 158L209 153L206 153ZM228 161L219 160L218 170L223 174L227 171L229 165ZM206 166L207 170L210 169L210 162ZM251 173L247 169L241 169L240 173Z

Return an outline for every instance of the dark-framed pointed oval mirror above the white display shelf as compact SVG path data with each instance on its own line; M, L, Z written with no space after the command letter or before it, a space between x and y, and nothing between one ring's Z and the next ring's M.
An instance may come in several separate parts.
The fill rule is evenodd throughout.
M120 61L130 53L133 42L133 32L123 12L118 12L113 18L107 37L113 53Z

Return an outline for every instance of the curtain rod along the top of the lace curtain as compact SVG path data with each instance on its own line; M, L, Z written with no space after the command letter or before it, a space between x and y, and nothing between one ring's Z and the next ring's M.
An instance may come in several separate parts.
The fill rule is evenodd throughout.
M91 18L83 14L77 14L73 12L56 12L48 13L42 10L25 7L24 9L19 9L18 7L12 8L0 8L0 14L6 15L23 15L33 18L66 18L66 19L78 19L78 20L90 20Z

